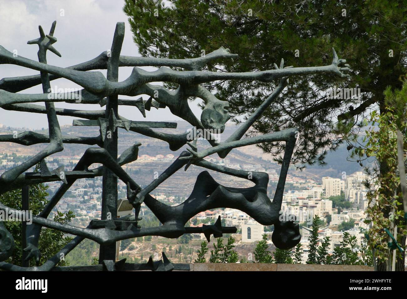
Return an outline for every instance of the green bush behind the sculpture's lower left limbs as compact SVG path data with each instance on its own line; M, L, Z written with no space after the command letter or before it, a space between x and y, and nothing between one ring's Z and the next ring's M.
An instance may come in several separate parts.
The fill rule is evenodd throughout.
M31 185L29 187L30 205L29 209L33 212L33 215L38 215L44 207L48 204L46 196L48 193L46 190L48 186L44 184ZM13 209L22 210L22 191L21 189L12 190L0 195L0 201ZM68 224L72 221L75 215L72 211L68 213L62 213L57 211L53 217L53 220L61 223ZM11 233L15 241L15 249L10 258L6 262L21 266L22 260L22 223L19 221L7 221L4 226ZM54 229L43 228L39 236L38 248L41 252L41 258L39 264L43 264L48 259L53 257L59 250L61 250L66 244L72 240L71 237L65 236L62 231ZM58 266L67 266L69 263L66 260L62 260L58 263ZM30 266L35 266L35 261L30 261Z

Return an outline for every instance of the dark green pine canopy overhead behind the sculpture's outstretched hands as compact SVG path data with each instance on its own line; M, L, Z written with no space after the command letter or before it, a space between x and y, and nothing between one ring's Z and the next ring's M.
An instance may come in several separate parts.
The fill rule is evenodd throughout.
M144 57L199 57L202 49L208 54L220 46L239 55L234 63L216 61L205 67L211 71L266 70L281 58L295 67L326 65L334 47L350 64L348 79L298 76L253 125L260 133L293 126L306 132L300 134L295 162L324 164L326 150L341 143L341 137L331 129L336 116L341 114L352 123L353 116L363 115L374 103L383 103L385 87L399 87L397 78L406 69L404 0L173 0L171 5L164 5L164 0L125 0L123 11L129 16L134 41ZM204 86L230 102L232 116L243 116L251 114L276 84L234 81ZM333 85L361 88L363 105L350 98L327 100L326 92ZM359 109L354 108L356 105ZM281 153L284 143L277 147L263 144L262 148Z

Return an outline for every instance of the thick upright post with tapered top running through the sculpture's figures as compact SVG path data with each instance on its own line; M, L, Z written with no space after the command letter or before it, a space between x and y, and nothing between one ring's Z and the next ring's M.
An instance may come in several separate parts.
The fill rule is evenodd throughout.
M119 58L125 35L125 23L118 22L114 32L112 48L107 61L107 80L118 82ZM118 118L117 95L107 97L106 118L110 113ZM104 140L104 148L114 158L117 159L117 128L109 120L109 126ZM103 191L102 191L102 219L116 219L117 217L117 177L114 173L103 168ZM103 260L116 260L116 244L101 245L99 251L99 264Z

